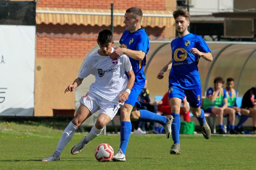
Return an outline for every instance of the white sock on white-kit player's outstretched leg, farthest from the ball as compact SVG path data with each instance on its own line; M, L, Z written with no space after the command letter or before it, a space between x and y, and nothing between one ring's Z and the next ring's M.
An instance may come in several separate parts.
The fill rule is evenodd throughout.
M64 132L62 133L61 139L58 142L58 145L56 147L56 151L59 153L62 152L64 147L67 145L68 142L70 142L70 139L73 137L74 132L77 130L77 127L70 122Z

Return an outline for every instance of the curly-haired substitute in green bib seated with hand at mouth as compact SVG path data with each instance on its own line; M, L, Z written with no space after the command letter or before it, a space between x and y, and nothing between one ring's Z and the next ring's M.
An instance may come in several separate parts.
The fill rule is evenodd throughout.
M226 133L223 126L223 117L227 115L230 122L230 134L238 134L235 130L235 110L228 107L227 92L226 89L222 88L223 85L224 79L222 77L214 79L214 89L208 88L204 99L204 110L218 116L219 134Z

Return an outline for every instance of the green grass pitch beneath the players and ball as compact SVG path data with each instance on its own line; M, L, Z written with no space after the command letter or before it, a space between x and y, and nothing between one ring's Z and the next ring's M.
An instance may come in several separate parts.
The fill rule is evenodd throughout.
M0 170L252 170L256 169L256 136L180 136L180 155L170 155L172 139L165 135L131 135L126 162L98 162L94 150L100 143L110 144L115 152L119 135L101 135L78 155L70 149L83 134L76 133L57 162L42 162L51 155L62 130L43 125L0 122Z

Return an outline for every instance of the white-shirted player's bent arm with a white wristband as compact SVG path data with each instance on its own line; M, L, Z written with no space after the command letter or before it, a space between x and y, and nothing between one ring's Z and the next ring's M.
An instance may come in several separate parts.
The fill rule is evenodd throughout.
M126 90L118 95L118 100L120 103L125 102L128 99L128 96L131 93L131 88L133 87L135 81L135 75L132 69L128 71L127 74L129 76L129 79L126 86Z

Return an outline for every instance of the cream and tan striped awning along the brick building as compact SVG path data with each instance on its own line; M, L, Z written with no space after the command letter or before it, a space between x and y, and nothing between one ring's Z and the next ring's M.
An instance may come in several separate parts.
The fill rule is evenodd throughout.
M114 10L113 26L124 26L125 10ZM36 9L36 23L41 24L76 24L90 26L110 26L111 9L79 9L79 8L40 8ZM143 11L141 25L143 27L173 26L175 20L172 11Z

